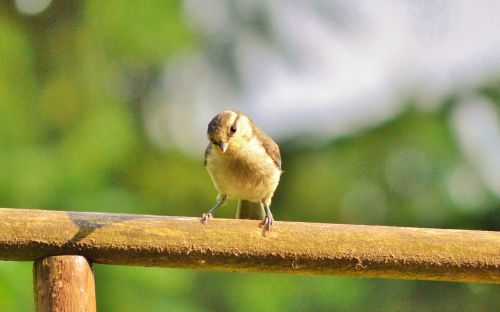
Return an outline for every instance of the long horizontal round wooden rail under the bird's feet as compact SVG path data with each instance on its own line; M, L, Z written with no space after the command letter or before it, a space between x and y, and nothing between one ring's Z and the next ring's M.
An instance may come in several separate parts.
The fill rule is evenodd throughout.
M0 209L0 259L500 283L500 232Z

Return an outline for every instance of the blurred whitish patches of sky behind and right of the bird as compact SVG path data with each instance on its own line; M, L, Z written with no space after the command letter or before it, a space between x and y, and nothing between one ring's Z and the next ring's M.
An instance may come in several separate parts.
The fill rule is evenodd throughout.
M185 0L184 11L205 44L166 65L145 124L158 145L193 155L227 108L278 139L332 138L393 118L408 98L432 109L458 91L466 102L500 74L495 0ZM500 133L498 118L477 120L490 104L471 101L452 131L500 195L498 154L485 146ZM485 125L493 131L478 130Z

